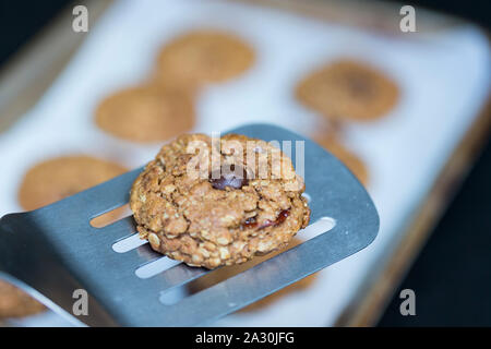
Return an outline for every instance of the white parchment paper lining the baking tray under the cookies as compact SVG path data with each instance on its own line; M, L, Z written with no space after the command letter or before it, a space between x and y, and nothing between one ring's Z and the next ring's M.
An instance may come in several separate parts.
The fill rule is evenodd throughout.
M200 95L195 131L220 131L254 121L312 131L316 116L295 100L294 87L315 65L338 58L367 61L402 89L399 104L386 118L346 130L348 146L369 167L369 192L381 216L376 240L319 273L304 291L215 324L332 325L368 272L376 267L378 257L400 238L482 107L490 84L490 50L484 35L474 26L406 37L376 35L244 3L118 1L89 29L74 59L36 107L0 135L4 169L0 173L0 215L21 210L16 202L20 181L40 160L84 153L131 168L153 158L160 144L141 145L104 133L93 122L94 109L108 94L145 79L163 44L203 27L243 37L256 52L256 64ZM15 324L60 325L60 321L45 314Z

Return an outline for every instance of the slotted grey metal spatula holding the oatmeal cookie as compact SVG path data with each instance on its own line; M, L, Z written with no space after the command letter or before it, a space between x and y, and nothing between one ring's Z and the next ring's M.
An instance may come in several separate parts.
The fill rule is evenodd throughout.
M177 303L164 304L163 293L214 272L171 263L153 252L139 242L132 217L104 228L89 225L92 218L128 203L140 168L52 205L2 217L0 278L91 326L203 325L360 251L376 237L379 216L372 201L333 155L278 127L251 124L230 132L294 145L306 141L311 225L331 217L334 228ZM295 146L291 156L296 158ZM88 314L74 316L74 291L80 289L88 294Z

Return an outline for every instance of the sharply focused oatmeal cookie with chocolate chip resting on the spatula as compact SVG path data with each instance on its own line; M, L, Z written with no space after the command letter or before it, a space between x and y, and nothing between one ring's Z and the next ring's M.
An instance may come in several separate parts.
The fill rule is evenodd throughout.
M264 141L189 134L146 166L130 207L154 250L215 268L285 246L309 222L303 191L291 160Z

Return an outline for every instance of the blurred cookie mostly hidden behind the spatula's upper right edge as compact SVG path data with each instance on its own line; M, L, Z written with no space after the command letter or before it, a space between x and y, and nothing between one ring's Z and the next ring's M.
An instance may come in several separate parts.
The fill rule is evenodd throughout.
M356 154L347 149L334 135L315 134L312 139L342 160L358 180L367 185L369 181L367 166Z

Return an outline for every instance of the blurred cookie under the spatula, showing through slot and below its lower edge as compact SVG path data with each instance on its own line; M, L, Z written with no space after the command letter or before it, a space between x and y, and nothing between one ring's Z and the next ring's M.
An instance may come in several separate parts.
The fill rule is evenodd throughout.
M252 261L246 262L243 264L221 267L221 268L215 270L214 273L207 274L201 278L197 278L195 281L191 282L189 285L190 292L195 293L197 291L201 291L203 289L212 287L213 285L216 285L216 284L218 284L223 280L226 280L239 273L242 273L242 272L253 267L254 265L258 265L261 262L264 262L264 261L266 261L284 251L287 251L302 242L303 242L302 240L300 240L298 238L294 238L291 240L291 242L288 244L288 246L285 249L272 252L264 256L256 256ZM290 286L287 286L287 287L280 289L279 291L276 291L276 292L241 309L240 311L241 312L259 311L261 309L272 305L274 302L280 300L282 298L284 298L288 294L308 289L314 281L315 281L315 274L312 274L295 284L291 284Z

